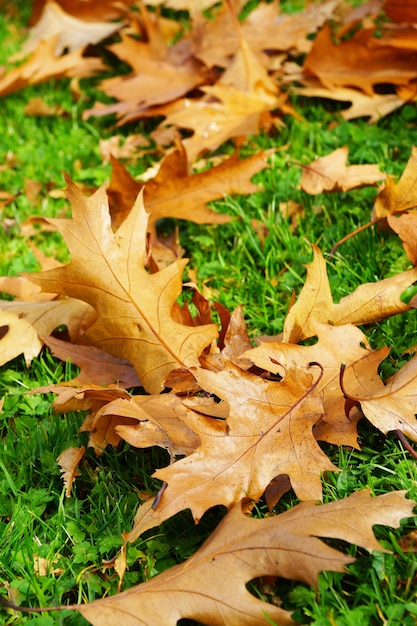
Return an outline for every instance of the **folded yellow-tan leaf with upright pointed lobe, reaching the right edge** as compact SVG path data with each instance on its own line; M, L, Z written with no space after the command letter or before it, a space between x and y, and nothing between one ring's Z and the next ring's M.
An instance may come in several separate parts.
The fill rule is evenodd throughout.
M290 309L283 341L298 343L315 335L314 320L323 324L372 324L411 307L401 301L403 291L417 280L416 268L374 283L364 283L334 304L326 272L326 262L313 245L314 260L307 267L307 278L300 296Z

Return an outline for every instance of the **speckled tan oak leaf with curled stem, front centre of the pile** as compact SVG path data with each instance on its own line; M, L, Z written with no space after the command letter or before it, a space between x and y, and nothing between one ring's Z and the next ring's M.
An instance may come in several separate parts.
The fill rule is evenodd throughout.
M314 375L314 378L313 378ZM184 417L201 440L196 452L155 472L168 483L154 512L156 523L191 509L195 520L211 506L227 507L244 495L258 499L269 482L288 474L301 499L321 498L321 473L335 466L313 434L323 405L318 367L291 367L270 382L229 364L221 372L197 370L196 379L227 402L227 420Z

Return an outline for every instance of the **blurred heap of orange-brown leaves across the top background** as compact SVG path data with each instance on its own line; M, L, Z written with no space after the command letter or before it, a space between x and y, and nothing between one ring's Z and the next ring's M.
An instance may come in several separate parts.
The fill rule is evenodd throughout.
M164 150L183 129L192 131L184 141L190 164L227 139L281 125L281 114L292 111L288 91L350 102L345 119L370 121L417 98L411 3L401 9L394 0L374 0L352 10L342 0L327 0L285 15L278 1L260 2L241 22L243 0L223 2L212 19L201 12L212 0L146 4L188 9L190 28L135 0L104 9L93 0L37 0L23 47L29 56L0 78L0 96L70 77L76 97L78 79L107 69L103 49L93 44L117 34L104 58L115 55L131 72L102 81L100 89L116 102L97 102L86 117L116 114L122 125L163 116L151 138ZM333 30L330 20L338 24ZM31 111L53 114L42 102ZM142 138L140 150L136 141L136 153L149 149L148 139Z

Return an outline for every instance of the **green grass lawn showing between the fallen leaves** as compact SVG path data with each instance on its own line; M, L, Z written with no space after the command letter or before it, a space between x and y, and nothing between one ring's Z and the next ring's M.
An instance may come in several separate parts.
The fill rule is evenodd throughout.
M15 24L0 15L4 42L1 62L19 46L16 27L19 20L25 23L29 12L29 3L20 4L21 16ZM95 82L83 81L91 98ZM25 105L35 96L48 104L59 104L68 114L51 118L25 115ZM348 145L350 163L378 163L384 172L398 175L417 136L414 105L405 105L370 126L366 120L343 121L338 115L342 105L302 98L293 98L293 104L305 121L286 116L285 127L274 136L250 137L242 148L243 155L250 155L288 144L287 149L278 149L271 156L269 169L256 175L255 182L264 190L214 202L215 208L236 218L228 224L179 223L181 244L200 285L229 310L244 305L251 337L281 332L291 294L298 294L304 283L304 265L312 259L311 243L328 256L337 241L370 220L375 188L309 196L298 189L298 164ZM67 207L65 200L48 194L50 188L64 186L62 171L91 187L109 178L110 167L102 164L98 141L113 134L112 120L82 121L82 111L89 106L91 100L87 98L73 102L65 80L26 88L1 100L0 154L5 161L13 154L17 165L0 170L0 189L21 192L2 213L1 275L38 269L20 234L20 224L30 215L54 216ZM150 130L152 122L125 126L118 132L127 135ZM232 146L224 149L230 152ZM144 159L129 165L129 171L137 175L150 164ZM36 204L24 192L28 179L42 185ZM304 207L295 229L279 210L280 203L289 200ZM262 243L254 232L253 219L261 220L267 229ZM35 243L46 254L68 259L56 234L39 234ZM371 227L328 259L335 301L362 283L393 276L409 267L398 237ZM391 348L382 365L386 377L409 358L404 352L417 344L417 314L411 311L363 330L373 348ZM0 395L4 398L0 413L0 585L10 585L16 603L24 605L89 602L117 592L118 575L103 563L117 554L123 543L121 533L131 528L140 492L158 491L159 482L150 476L168 460L160 449L142 451L128 444L108 448L99 458L89 450L73 496L66 498L56 458L71 445L86 444L86 434L78 433L83 415L55 415L52 397L29 392L40 385L68 380L75 370L70 363L54 360L47 350L29 368L23 358L0 368ZM361 450L321 444L341 470L327 476L324 501L343 498L364 487L373 494L405 489L417 500L416 461L398 438L383 436L366 419L361 420L359 431ZM274 511L284 511L295 503L290 492ZM259 511L267 511L263 502ZM221 507L212 509L194 526L191 515L185 512L130 544L123 589L193 554L223 515ZM416 530L415 519L404 522L399 530L376 528L378 539L389 549L386 553L369 554L345 546L357 561L344 575L321 574L318 590L279 581L277 595L283 607L294 611L299 622L316 626L416 624L417 556L398 545L399 538L412 530ZM45 563L48 573L39 575ZM0 587L2 592L5 587ZM191 623L195 622L181 621L183 626ZM81 626L87 622L69 612L30 615L0 610L0 624Z

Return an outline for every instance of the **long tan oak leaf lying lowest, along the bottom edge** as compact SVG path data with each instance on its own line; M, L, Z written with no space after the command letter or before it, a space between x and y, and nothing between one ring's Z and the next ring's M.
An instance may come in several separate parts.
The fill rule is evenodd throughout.
M210 626L267 626L271 620L278 626L294 624L289 612L251 595L248 581L272 575L317 587L321 571L343 572L354 561L318 537L383 551L372 527L398 527L413 507L404 492L373 498L369 491L359 491L337 502L304 502L281 515L254 519L242 514L239 503L185 563L115 597L71 609L94 626L117 621L174 626L183 617Z

